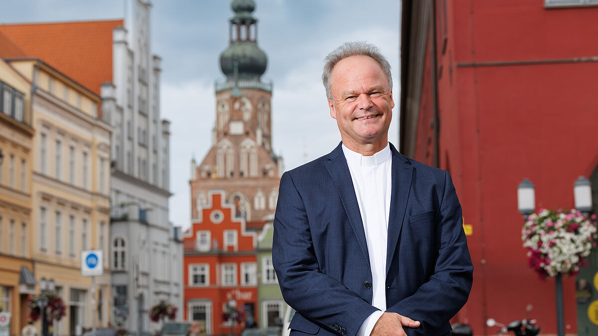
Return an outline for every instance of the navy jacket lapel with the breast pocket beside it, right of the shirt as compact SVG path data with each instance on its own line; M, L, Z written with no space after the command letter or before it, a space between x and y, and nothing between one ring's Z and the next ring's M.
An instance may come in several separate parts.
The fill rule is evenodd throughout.
M411 162L399 154L392 144L390 144L390 150L392 151L392 190L390 191L390 215L388 219L386 275L388 275L390 263L395 255L396 244L401 235L405 209L407 209L407 200L411 190L411 176L413 176Z

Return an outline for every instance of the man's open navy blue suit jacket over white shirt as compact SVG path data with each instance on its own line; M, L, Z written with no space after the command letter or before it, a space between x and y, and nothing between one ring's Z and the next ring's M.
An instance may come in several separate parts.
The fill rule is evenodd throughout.
M386 311L419 320L408 335L446 335L465 304L473 266L449 173L390 145L392 192ZM273 264L297 314L291 335L355 336L373 311L364 227L346 158L330 154L285 172L274 217Z

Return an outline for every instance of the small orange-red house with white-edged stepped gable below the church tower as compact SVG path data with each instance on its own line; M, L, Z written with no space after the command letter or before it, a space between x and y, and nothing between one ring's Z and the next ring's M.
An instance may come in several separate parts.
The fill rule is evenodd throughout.
M246 230L224 193L210 192L209 203L183 239L184 316L205 326L207 335L230 334L223 316L235 300L241 323L235 334L258 319L256 234Z

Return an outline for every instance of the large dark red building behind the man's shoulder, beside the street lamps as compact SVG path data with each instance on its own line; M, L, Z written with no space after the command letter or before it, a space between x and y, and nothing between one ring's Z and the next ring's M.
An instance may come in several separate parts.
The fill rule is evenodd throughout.
M400 148L453 176L475 268L453 322L470 323L476 335L494 334L489 317L522 319L528 303L542 334L556 334L554 280L527 266L517 186L535 184L536 209L573 207L580 175L598 189L592 4L403 1ZM575 278L565 276L563 287L566 334L596 335L583 322L587 306L576 304Z

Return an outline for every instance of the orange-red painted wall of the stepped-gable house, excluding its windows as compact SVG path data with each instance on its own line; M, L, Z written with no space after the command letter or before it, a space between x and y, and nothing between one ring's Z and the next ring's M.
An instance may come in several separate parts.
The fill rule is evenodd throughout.
M224 204L222 193L210 193L210 204L202 209L202 221L191 224L191 228L183 238L184 258L183 258L183 276L184 276L184 317L189 317L188 303L193 300L207 300L212 305L210 311L212 320L213 335L230 334L231 326L225 325L222 314L225 312L224 304L230 299L237 301L237 307L243 307L245 304L254 304L254 320L258 320L259 307L257 296L257 274L256 286L244 286L242 283L241 264L244 262L256 262L255 254L255 234L245 231L245 220L234 217L234 206ZM213 212L219 212L224 217L221 222L212 221ZM210 251L200 252L196 246L196 233L200 230L210 231L212 242L216 240L216 245L210 248ZM237 231L237 249L224 247L224 230ZM236 284L235 286L223 286L221 280L221 265L227 263L236 264ZM209 265L209 283L208 286L191 286L190 284L190 265L208 264ZM257 265L256 268L257 270ZM239 335L243 330L243 323L236 323L235 334Z

